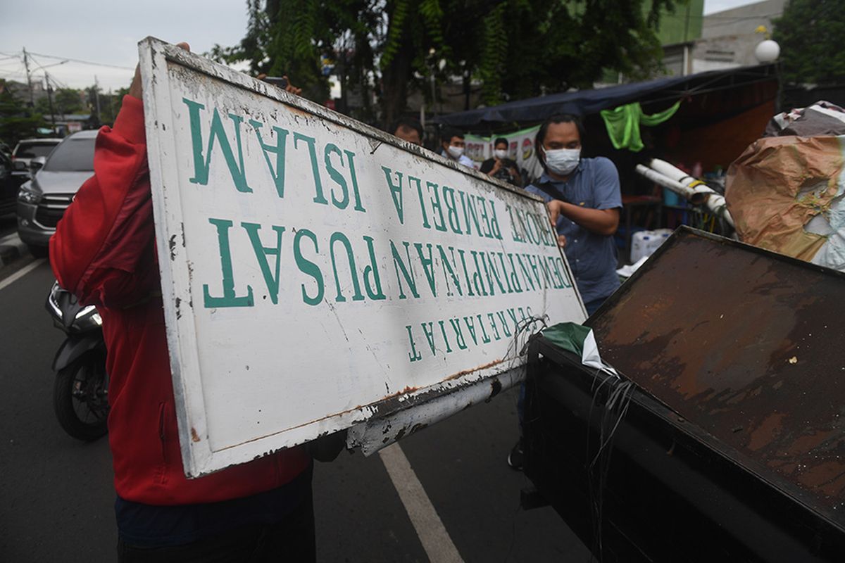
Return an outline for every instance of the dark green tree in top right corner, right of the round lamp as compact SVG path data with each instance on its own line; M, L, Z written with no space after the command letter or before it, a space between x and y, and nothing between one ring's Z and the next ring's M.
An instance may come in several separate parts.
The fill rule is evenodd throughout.
M845 0L789 0L772 20L781 46L782 78L789 84L835 84L845 77Z

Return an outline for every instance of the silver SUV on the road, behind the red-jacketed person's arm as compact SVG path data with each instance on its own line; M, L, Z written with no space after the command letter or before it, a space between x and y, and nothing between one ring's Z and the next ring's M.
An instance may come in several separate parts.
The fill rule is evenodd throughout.
M33 256L46 256L50 237L82 184L94 174L96 131L63 139L18 192L18 235Z

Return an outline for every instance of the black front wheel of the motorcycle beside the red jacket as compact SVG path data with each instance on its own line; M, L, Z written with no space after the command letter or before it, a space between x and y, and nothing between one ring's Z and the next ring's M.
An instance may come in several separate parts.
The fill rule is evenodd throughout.
M108 431L108 375L105 351L79 356L56 374L53 407L59 425L70 436L95 441Z

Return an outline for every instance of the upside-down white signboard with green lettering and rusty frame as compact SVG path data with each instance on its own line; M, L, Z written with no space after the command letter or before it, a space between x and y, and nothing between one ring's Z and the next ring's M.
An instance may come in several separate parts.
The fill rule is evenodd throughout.
M175 46L140 53L189 476L512 369L538 321L584 319L539 199Z

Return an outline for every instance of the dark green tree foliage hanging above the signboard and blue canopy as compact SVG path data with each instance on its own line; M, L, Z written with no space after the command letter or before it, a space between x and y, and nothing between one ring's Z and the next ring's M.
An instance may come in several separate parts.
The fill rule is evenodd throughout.
M211 55L285 73L319 96L321 57L338 59L341 82L376 89L389 122L411 89L430 97L432 77L478 78L492 105L589 87L605 69L645 76L662 57L659 14L676 3L684 0L248 0L243 41Z

